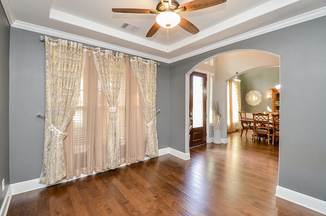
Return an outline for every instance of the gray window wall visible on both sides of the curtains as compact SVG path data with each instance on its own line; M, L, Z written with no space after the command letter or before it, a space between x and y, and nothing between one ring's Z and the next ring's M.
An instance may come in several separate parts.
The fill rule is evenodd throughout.
M10 183L40 177L45 113L45 43L41 34L11 28ZM53 37L55 38L55 37ZM88 44L85 44L88 45ZM169 64L157 67L158 147L169 147Z

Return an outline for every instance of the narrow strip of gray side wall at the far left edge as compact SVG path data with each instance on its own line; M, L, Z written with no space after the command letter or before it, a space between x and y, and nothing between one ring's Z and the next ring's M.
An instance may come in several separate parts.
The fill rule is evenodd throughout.
M9 39L10 25L0 4L0 206L8 191L9 178ZM2 180L5 179L5 191Z

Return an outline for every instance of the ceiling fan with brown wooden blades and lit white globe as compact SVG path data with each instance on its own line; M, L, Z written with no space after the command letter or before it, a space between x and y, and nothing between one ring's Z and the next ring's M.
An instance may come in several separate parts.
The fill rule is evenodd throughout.
M156 22L150 28L146 37L152 37L161 26L164 28L173 28L176 25L179 25L185 31L195 35L199 32L199 29L193 23L189 22L183 17L180 17L179 13L209 8L225 3L226 1L227 0L194 0L192 2L180 5L177 1L174 0L161 0L156 6L156 10L138 8L113 8L112 11L118 13L158 14L156 16Z

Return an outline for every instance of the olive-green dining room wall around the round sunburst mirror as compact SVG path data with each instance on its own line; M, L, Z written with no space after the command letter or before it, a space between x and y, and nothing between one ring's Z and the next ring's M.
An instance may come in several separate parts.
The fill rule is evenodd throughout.
M247 113L267 112L267 106L272 109L271 100L267 99L269 89L280 84L280 67L263 67L249 70L237 77L241 80L241 110ZM262 95L262 101L256 106L246 102L246 95L249 91L256 90Z

